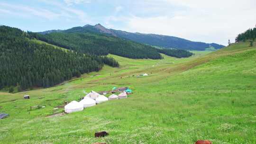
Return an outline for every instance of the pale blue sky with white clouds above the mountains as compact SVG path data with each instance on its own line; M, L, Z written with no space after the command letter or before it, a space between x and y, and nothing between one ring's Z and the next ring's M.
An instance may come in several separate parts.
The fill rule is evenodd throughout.
M256 26L256 0L0 0L0 25L107 28L227 45Z

